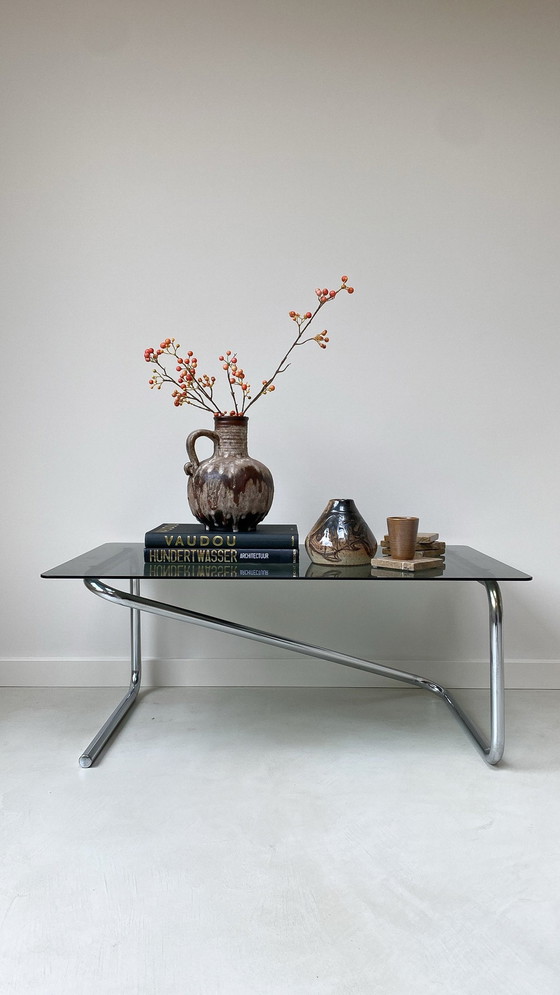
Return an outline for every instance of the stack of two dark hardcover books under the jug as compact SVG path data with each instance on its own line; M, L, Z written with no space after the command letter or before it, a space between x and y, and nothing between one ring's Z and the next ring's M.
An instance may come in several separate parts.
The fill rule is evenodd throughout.
M154 568L153 576L292 576L298 559L296 525L210 532L198 522L164 523L144 540L144 561Z

